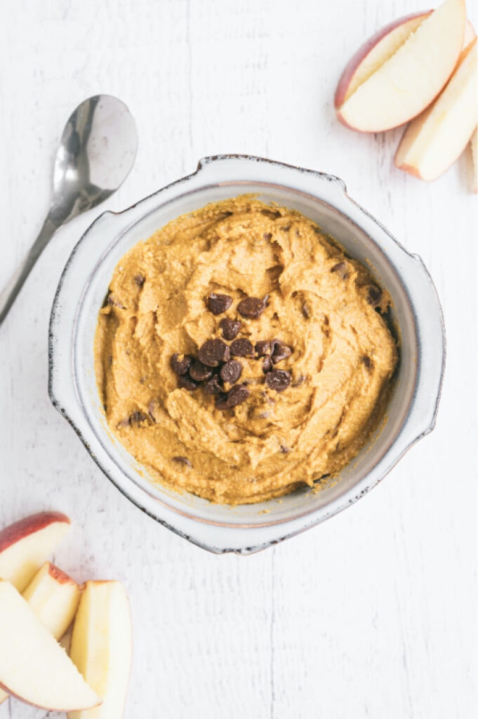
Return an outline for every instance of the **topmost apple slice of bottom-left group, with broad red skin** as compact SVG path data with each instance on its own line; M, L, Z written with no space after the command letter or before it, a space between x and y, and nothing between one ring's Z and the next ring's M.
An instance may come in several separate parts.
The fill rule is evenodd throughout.
M0 531L0 579L23 592L37 569L55 551L70 529L60 512L40 512Z

